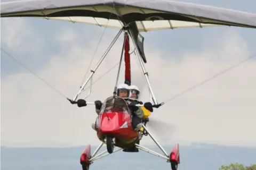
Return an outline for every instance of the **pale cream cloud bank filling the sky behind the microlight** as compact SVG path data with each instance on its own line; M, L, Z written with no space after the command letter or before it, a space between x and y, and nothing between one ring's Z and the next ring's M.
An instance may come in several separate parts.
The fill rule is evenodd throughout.
M21 29L33 30L34 25L27 24L25 21L23 19L16 19L15 22L13 19L6 20L2 24L1 32L10 30L11 36L5 36L6 34L2 33L4 39L2 43L13 50L27 49L25 47L30 46L34 49L34 53L52 54L48 56L50 60L43 69L37 70L37 75L63 94L73 98L79 90L103 28L93 26L90 27L92 28L90 32L83 32L83 30L72 29L70 23L60 22L57 25L58 29L52 31L54 36L51 40L58 43L58 46L53 43L55 46L52 49L58 49L53 54L46 52L45 48L38 47L38 44L20 43L35 36L33 33L39 32L38 30L20 32ZM50 24L47 23L47 27L50 28ZM194 84L248 57L250 52L246 41L234 30L227 28L218 40L207 37L209 44L214 46L205 47L200 51L184 49L172 58L170 58L172 54L145 46L148 60L145 66L157 100L161 102L172 98ZM93 69L116 33L117 30L107 29L90 69ZM148 34L150 35L150 32ZM16 37L15 41L13 37ZM147 34L145 38L148 42L154 42L153 37L147 38ZM81 39L87 41L86 45ZM106 60L93 76L93 81L118 63L122 41L123 36L110 50ZM45 44L47 40L40 39L39 43ZM20 53L22 55L26 52L21 50ZM132 80L140 82L143 78L134 58L132 55ZM182 58L182 60L175 58ZM229 145L234 143L243 145L245 142L256 141L254 135L247 133L256 128L254 65L255 61L248 61L220 75L211 82L156 109L151 117L175 125L175 133L171 137L168 130L163 132L170 138L170 142L215 141ZM120 82L124 80L123 70L124 66L122 66ZM93 85L92 94L87 100L104 100L110 96L114 90L116 75L117 67ZM143 88L142 98L147 101L146 85L138 86ZM86 143L98 145L96 133L91 129L91 123L94 123L97 117L93 106L77 108L70 105L65 97L47 87L29 72L7 75L2 80L1 87L1 140L16 142L17 145L30 143L30 146L33 142L35 145L44 145L42 141L67 143L67 145L85 145ZM142 143L150 142L149 137L142 141Z

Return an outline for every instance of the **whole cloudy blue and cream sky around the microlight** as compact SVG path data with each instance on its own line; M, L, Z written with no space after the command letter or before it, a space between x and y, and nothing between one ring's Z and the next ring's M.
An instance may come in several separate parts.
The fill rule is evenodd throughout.
M255 13L254 1L184 1ZM94 106L78 108L73 98L105 28L63 21L3 18L1 48L1 142L6 146L77 146L99 141L91 123ZM90 69L93 69L118 30L107 28ZM256 31L212 27L150 31L145 37L145 65L159 102L195 86L214 74L255 55ZM115 66L121 54L119 37L93 81ZM133 48L131 48L133 49ZM132 82L148 101L148 90L135 56ZM150 117L169 124L161 131L167 143L209 142L256 146L255 58L155 109ZM93 84L87 101L105 100L113 94L118 67ZM122 66L122 71L124 67ZM88 76L89 74L87 74ZM123 82L124 72L119 82ZM143 83L143 84L142 84ZM86 91L83 96L86 95ZM149 129L156 131L152 126ZM157 133L160 133L159 131ZM153 133L156 135L156 133ZM168 139L168 140L167 140ZM141 144L153 144L145 138Z

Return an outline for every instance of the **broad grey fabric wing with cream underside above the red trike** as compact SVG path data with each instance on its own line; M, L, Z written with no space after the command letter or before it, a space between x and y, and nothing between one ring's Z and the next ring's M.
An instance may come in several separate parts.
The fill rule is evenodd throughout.
M256 28L256 14L167 0L27 0L1 3L1 17L38 17L139 32L228 25Z

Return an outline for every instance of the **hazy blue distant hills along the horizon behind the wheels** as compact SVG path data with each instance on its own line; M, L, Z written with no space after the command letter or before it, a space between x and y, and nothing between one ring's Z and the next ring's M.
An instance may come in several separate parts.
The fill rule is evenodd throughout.
M92 152L96 147L92 147ZM172 147L164 147L170 152ZM1 147L1 170L75 170L81 169L79 157L84 147L65 148L8 148ZM106 149L103 147L100 151ZM162 153L157 147L150 149ZM217 170L223 164L242 163L250 165L256 163L256 148L228 147L209 145L207 143L193 143L190 146L180 146L181 170ZM116 152L113 155L95 160L91 169L99 170L137 170L137 169L171 169L162 158L146 152L125 153Z

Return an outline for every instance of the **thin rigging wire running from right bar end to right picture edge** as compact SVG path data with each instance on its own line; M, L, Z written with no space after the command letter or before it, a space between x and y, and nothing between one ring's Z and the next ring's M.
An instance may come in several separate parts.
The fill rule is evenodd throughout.
M212 77L210 77L210 78L208 78L208 79L205 79L204 81L195 84L194 86L188 88L187 90L182 91L180 94L177 94L177 95L173 96L172 98L167 99L167 100L164 101L163 103L166 104L166 103L168 103L169 101L172 101L172 100L174 100L174 99L176 99L176 98L178 98L178 97L180 97L180 96L183 96L183 95L187 94L187 93L190 92L191 90L194 90L195 88L197 88L197 87L199 87L199 86L202 86L202 85L205 84L206 82L209 82L209 81L213 80L214 78L219 77L221 74L224 74L224 73L226 73L226 72L228 72L228 71L230 71L230 70L235 69L235 67L238 67L239 65L243 64L243 63L246 62L246 61L251 60L251 59L254 58L254 57L256 57L256 54L255 54L255 55L252 55L252 56L250 56L250 57L247 57L247 58L245 58L244 60L242 60L242 61L240 61L240 62L238 62L238 63L236 63L236 64L234 64L234 65L229 66L227 69L222 70L222 71L220 71L219 73L214 74Z

